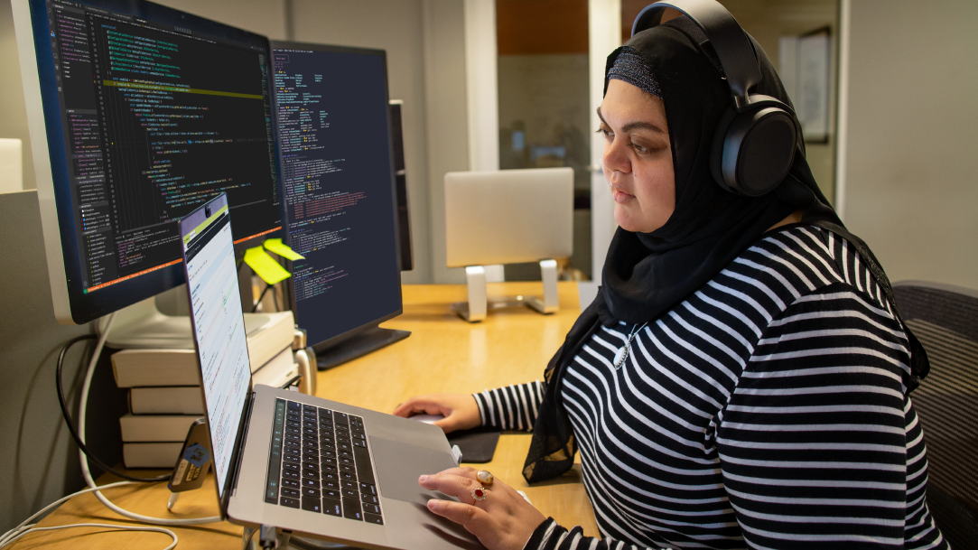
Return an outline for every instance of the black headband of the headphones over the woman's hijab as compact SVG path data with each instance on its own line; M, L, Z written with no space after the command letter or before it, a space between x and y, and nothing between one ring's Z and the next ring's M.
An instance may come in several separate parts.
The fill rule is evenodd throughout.
M724 69L733 94L733 106L738 112L743 111L750 104L747 91L761 81L761 69L754 48L739 23L715 0L672 0L656 2L642 10L632 25L632 36L661 23L666 8L683 12L703 29Z

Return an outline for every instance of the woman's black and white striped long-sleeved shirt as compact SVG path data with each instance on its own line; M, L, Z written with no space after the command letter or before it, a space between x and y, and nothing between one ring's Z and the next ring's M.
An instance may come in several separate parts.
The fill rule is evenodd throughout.
M599 329L574 358L560 396L604 538L548 520L526 547L947 548L909 368L848 243L772 232L658 320ZM543 393L475 397L484 424L529 430Z

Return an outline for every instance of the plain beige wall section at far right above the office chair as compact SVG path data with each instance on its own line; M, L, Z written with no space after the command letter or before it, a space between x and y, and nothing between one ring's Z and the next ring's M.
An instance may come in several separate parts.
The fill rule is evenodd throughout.
M978 289L978 2L851 0L845 222L890 279Z

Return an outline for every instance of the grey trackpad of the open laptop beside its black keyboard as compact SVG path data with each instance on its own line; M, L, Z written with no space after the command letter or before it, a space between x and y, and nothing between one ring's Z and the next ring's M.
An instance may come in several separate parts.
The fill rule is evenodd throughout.
M437 491L423 489L418 478L455 468L451 454L373 435L370 444L381 496L422 504L429 498L445 498Z

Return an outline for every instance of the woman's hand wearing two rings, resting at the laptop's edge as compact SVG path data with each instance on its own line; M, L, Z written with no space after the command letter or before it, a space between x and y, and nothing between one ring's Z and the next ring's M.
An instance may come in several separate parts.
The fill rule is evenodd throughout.
M461 502L428 500L431 512L466 527L489 550L520 550L547 518L503 481L483 485L474 468L450 468L422 476L418 483L457 497ZM476 501L472 489L484 487L485 499Z

